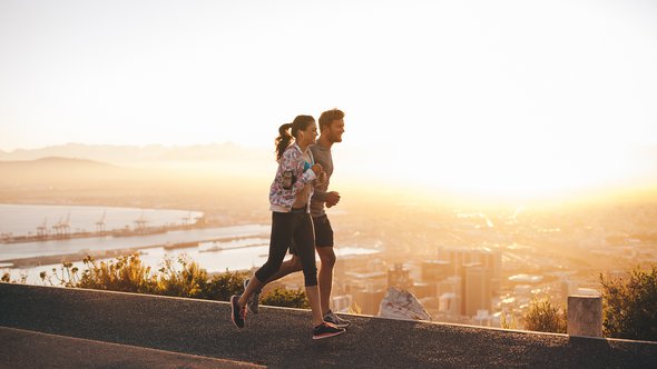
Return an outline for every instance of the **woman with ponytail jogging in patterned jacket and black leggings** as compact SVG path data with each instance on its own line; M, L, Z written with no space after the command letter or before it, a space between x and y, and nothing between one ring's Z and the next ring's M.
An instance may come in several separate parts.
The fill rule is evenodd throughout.
M244 327L246 302L281 267L287 248L294 239L301 259L306 297L313 316L313 339L344 333L322 318L317 268L315 266L315 236L308 202L313 195L312 181L322 174L322 166L313 162L308 146L315 143L317 124L311 116L298 116L292 123L278 128L276 160L278 170L269 189L272 236L269 256L251 279L244 293L231 297L231 319L237 328Z

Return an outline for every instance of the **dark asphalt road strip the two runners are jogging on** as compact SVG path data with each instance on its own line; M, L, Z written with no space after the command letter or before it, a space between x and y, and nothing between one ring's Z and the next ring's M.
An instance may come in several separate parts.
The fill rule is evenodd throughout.
M227 302L0 283L0 327L273 368L657 368L657 343L364 316L315 341L310 319L262 308L239 330Z

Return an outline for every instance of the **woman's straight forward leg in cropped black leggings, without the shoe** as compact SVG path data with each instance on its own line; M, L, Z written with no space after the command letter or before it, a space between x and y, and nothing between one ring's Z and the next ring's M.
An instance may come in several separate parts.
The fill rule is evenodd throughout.
M313 327L321 325L322 306L320 301L320 288L317 287L317 267L315 263L315 232L313 221L307 213L302 215L298 227L294 230L294 242L301 259L303 276L306 287L306 297L313 313Z

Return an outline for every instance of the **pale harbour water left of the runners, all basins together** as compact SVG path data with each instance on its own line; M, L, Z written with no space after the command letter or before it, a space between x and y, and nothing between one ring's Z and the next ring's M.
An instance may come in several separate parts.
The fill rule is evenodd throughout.
M144 212L151 221L150 225L167 225L182 217L199 216L198 212L184 210L155 210L104 207L50 207L50 206L7 206L0 205L0 232L27 235L32 229L36 215L58 215L70 211L71 226L73 219L79 225L92 225L98 215L106 212L106 222L112 215L112 225L122 228L131 223ZM73 217L75 215L75 217ZM90 218L82 218L84 216ZM66 217L66 216L65 216ZM36 217L38 218L38 217ZM157 223L156 223L157 221ZM109 225L109 222L108 222ZM82 227L82 226L80 226ZM72 228L72 227L71 227ZM95 229L95 228L92 228ZM109 226L107 229L111 229ZM8 262L11 259L32 258L41 256L58 256L67 253L104 251L117 249L140 249L141 260L154 270L159 269L165 257L177 260L185 255L189 260L197 261L208 272L223 272L226 270L245 270L261 267L267 259L271 225L244 225L231 227L217 227L206 229L176 230L166 233L137 236L137 237L94 237L78 239L48 240L38 242L0 243L0 273L9 272L12 279L19 279L20 275L27 275L28 283L40 285L41 271L51 272L52 268L61 267L61 263L43 265L30 268L13 268ZM235 240L203 242L216 239L238 238ZM165 249L164 245L182 242L202 242L198 246L184 249ZM335 248L337 256L370 255L379 251L361 247ZM99 259L98 261L110 259ZM75 267L84 270L82 262L73 262ZM176 263L176 267L180 267Z

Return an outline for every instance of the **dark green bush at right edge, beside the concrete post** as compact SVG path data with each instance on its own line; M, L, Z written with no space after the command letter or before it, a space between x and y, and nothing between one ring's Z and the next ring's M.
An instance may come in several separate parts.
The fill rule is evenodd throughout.
M636 267L629 279L600 273L606 337L657 341L657 267Z

